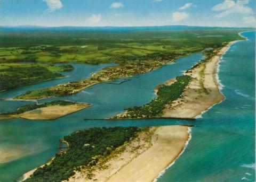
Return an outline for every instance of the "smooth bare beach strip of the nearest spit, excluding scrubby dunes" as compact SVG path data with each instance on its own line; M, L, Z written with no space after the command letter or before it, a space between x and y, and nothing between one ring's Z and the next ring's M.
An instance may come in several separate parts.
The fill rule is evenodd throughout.
M182 129L185 129L185 131L183 130L183 134L186 136L184 136L183 140L181 140L181 137L179 136L179 134L173 134L175 133L175 128L178 130L180 129L180 132ZM162 133L164 132L169 132L169 134L162 135ZM182 154L182 152L186 149L186 144L189 142L189 138L190 138L190 131L189 131L189 127L187 126L180 126L180 125L163 126L163 127L159 127L159 130L155 132L155 134L153 135L153 138L154 136L156 136L157 139L155 142L153 142L153 145L147 151L140 154L137 158L135 158L129 164L127 164L121 170L119 170L115 175L111 176L110 179L107 180L107 182L118 182L118 180L120 179L122 179L123 182L155 181L157 177L159 177L159 175L162 175L164 170L168 168L170 165L172 165L175 162L175 160L177 160L179 156ZM172 136L176 140L179 138L179 142L175 143L175 142L169 141L163 144L165 140L168 141L168 139L170 139L170 138L165 138L168 136ZM182 143L182 146L181 146L181 143ZM161 147L159 147L159 145ZM169 146L163 146L163 145L169 145ZM172 151L168 150L169 154L166 154L165 153L167 152L166 149L172 149ZM176 151L173 152L174 150ZM170 156L170 153L171 153L171 156ZM138 169L141 169L141 170L138 170Z

